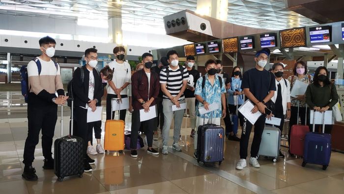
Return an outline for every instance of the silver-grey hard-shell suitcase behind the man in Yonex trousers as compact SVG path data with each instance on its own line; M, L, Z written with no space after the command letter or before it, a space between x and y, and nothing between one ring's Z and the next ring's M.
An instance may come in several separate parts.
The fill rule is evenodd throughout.
M281 146L281 131L276 127L266 126L261 136L258 157L272 157L273 162L277 162Z

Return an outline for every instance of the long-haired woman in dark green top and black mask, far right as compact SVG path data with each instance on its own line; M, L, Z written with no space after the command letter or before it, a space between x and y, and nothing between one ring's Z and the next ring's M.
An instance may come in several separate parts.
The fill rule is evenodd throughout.
M328 78L328 70L324 66L316 68L313 83L306 90L306 103L315 111L332 110L338 102L337 89ZM318 129L320 125L315 125ZM325 133L331 134L332 125L325 125Z

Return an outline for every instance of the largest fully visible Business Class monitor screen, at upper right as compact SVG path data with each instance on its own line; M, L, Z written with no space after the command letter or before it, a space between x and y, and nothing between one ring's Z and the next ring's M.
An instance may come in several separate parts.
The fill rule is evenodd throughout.
M331 26L319 26L310 28L311 43L331 42Z

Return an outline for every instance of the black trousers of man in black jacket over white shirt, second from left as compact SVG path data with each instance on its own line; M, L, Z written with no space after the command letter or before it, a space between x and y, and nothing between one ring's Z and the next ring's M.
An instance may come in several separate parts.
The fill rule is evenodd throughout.
M87 109L75 107L74 109L74 131L73 135L83 138L84 140L84 158L86 158L86 151L89 141L89 136L92 137L92 130L94 123L87 123Z

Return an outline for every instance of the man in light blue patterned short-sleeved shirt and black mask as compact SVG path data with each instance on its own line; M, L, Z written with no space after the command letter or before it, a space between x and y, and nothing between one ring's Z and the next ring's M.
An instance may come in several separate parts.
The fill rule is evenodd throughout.
M205 123L220 125L221 117L226 117L226 89L224 80L215 75L217 69L216 62L214 60L208 60L204 66L207 73L197 80L195 89L195 97L198 100L198 104L196 106L196 129ZM202 86L203 79L205 79L204 87ZM206 110L209 110L210 106L217 106L218 108L201 115L199 108L202 106L204 106ZM194 146L196 153L197 131L195 131Z

